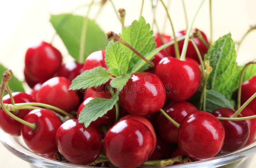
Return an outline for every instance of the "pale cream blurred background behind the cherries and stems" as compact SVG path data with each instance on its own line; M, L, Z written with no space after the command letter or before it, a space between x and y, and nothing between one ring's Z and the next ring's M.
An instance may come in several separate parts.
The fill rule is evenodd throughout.
M75 7L90 3L89 0L8 0L1 1L0 4L0 62L6 67L11 68L16 76L23 80L24 55L29 44L36 40L49 42L54 34L54 29L49 22L50 14L70 12ZM139 18L141 0L114 0L116 8L125 8L126 24ZM167 2L167 1L165 1ZM192 17L201 0L185 0L187 6L188 20ZM256 1L255 0L212 0L213 14L213 37L214 40L220 36L231 32L235 41L238 41L249 25L256 24ZM98 7L94 6L90 17L93 18ZM209 37L209 4L205 1L201 11L198 13L194 27L203 30ZM170 15L176 31L185 28L183 8L181 0L171 0L169 9ZM86 8L75 12L85 14ZM145 0L143 16L148 23L152 23L152 13L150 0ZM159 3L157 8L157 22L162 29L165 11ZM109 2L103 8L102 15L97 20L103 31L120 32L121 24ZM171 35L169 22L166 23L165 33ZM155 29L154 29L155 30ZM245 63L256 58L256 31L246 37L239 53L237 62ZM100 43L100 42L99 42ZM65 57L68 59L68 52L65 46L57 37L53 42ZM255 159L254 159L255 160ZM252 162L254 167L256 162ZM28 164L8 152L0 144L0 167L28 167Z

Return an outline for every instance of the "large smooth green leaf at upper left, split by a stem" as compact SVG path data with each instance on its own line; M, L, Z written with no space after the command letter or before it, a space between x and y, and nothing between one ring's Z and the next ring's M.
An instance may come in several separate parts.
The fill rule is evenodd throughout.
M79 61L81 30L84 17L72 14L60 14L52 15L50 21L68 49L69 54L76 61ZM84 44L84 60L92 52L104 50L107 45L108 40L106 39L105 33L94 21L89 19Z

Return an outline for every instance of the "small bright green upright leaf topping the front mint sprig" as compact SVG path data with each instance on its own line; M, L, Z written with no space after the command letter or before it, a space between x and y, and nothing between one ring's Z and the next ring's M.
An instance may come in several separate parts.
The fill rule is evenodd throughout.
M127 55L120 44L110 41L105 53L108 72L114 76L122 76L128 68Z

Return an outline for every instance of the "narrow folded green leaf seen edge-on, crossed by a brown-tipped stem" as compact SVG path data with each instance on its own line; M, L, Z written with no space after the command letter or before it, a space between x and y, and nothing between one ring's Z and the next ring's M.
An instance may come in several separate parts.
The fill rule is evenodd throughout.
M168 47L169 45L170 45L170 44L164 44L164 45L162 45L162 46L160 46L160 47L158 47L158 48L155 48L153 51L147 53L144 57L147 58L148 60L152 60L152 59L154 58L154 55L156 55L156 53L158 53L159 51L161 51L163 48ZM149 66L150 66L150 65L149 65L146 61L140 59L140 60L138 60L138 62L133 66L131 73L142 72L142 71L148 69Z

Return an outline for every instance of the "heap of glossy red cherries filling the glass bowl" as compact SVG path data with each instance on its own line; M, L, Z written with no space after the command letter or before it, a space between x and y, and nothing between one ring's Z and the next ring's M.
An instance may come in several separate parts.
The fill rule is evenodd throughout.
M185 31L179 32L177 37L183 35ZM208 43L203 32L202 35ZM173 40L166 35L162 35L162 38L164 43ZM201 40L192 39L202 56L207 53ZM156 47L162 45L158 34L155 41ZM184 40L178 43L180 52L183 43ZM172 57L175 56L174 47L170 46L155 55L152 61L156 68L132 74L125 88L128 91L133 90L120 92L119 120L116 123L114 107L85 128L76 118L86 103L94 97L109 99L111 94L105 85L87 88L85 91L72 91L68 88L71 81L83 71L98 66L107 68L104 55L105 50L97 51L89 55L84 64L74 61L62 64L61 53L51 44L41 42L30 47L25 57L24 75L33 91L12 93L15 103L31 102L30 106L33 106L33 102L52 105L72 114L75 119L66 117L63 123L56 111L48 108L12 112L20 119L34 124L31 128L0 110L1 128L11 135L22 135L28 148L50 158L59 152L74 164L91 164L101 158L123 168L137 167L146 161L180 155L196 161L207 159L235 151L254 140L256 119L220 121L216 117L229 117L234 111L229 108L219 108L212 113L198 111L193 104L186 101L196 93L202 80L197 53L191 42L188 44L186 61ZM170 66L173 62L176 67ZM175 81L179 74L184 79ZM149 80L145 80L145 77L149 77ZM139 92L138 83L144 84L147 92ZM161 87L148 91L146 83ZM181 83L186 83L188 87L180 88ZM172 92L164 90L164 86L168 84L172 84ZM243 84L241 103L255 92L256 76ZM12 104L9 95L3 97L3 103ZM161 108L167 116L159 112ZM252 116L255 113L256 99L244 108L241 115ZM177 124L172 124L167 119L168 116Z

